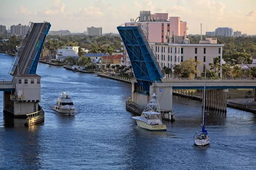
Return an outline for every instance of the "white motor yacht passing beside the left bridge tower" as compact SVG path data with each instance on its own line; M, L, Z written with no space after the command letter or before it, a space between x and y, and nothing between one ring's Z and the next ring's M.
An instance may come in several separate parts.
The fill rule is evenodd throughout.
M53 106L53 110L63 114L74 114L75 109L76 108L73 105L72 99L65 92L60 94L59 98L57 99L57 103Z

